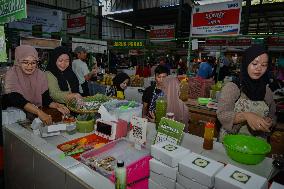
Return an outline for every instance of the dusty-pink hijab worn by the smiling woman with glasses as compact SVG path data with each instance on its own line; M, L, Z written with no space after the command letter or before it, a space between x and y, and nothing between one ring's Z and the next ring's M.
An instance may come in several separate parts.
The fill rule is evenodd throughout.
M33 56L38 60L38 53L34 47L21 45L16 48L15 64L5 75L5 93L20 93L29 102L42 106L42 94L48 90L47 79L38 68L31 75L22 71L20 64L27 56Z

